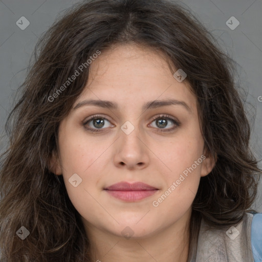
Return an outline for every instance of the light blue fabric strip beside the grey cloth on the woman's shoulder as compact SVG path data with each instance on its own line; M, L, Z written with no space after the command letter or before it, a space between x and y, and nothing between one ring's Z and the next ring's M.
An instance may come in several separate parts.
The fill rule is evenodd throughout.
M254 262L262 261L262 213L253 214L251 224L251 246Z

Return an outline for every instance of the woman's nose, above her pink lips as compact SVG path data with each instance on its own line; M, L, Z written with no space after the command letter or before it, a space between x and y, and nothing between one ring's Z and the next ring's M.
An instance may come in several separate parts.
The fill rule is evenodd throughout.
M119 130L119 139L116 141L114 154L114 164L119 168L144 169L149 164L148 142L139 128L135 128L132 133L125 134Z

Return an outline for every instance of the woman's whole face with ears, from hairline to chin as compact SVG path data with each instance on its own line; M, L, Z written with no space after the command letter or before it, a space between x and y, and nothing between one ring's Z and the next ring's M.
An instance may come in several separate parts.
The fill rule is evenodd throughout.
M185 80L156 51L135 45L92 62L85 90L60 123L59 151L55 173L85 228L119 236L149 236L184 220L213 167Z

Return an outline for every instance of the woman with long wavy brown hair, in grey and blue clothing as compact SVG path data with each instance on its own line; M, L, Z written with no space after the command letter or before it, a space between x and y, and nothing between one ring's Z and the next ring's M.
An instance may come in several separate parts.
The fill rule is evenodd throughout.
M36 51L2 158L1 261L260 261L233 62L190 12L86 1Z

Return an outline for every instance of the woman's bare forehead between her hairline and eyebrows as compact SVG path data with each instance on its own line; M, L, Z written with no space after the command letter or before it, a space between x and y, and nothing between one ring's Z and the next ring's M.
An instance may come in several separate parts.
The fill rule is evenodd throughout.
M189 84L173 77L166 57L135 44L115 45L92 61L86 88L76 103L87 98L115 101L122 107L176 99L197 109Z

